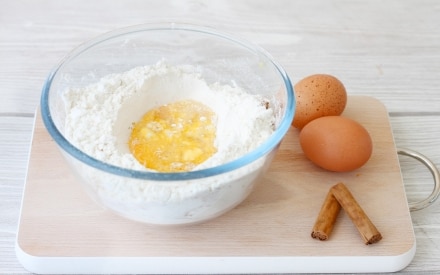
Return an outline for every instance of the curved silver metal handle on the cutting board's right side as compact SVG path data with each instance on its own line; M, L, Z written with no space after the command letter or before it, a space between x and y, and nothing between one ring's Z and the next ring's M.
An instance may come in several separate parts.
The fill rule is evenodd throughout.
M437 167L430 159L420 154L419 152L410 149L397 148L397 153L399 155L412 157L423 163L429 169L429 171L431 172L434 178L434 188L432 190L432 193L424 200L408 203L409 210L416 211L430 206L432 203L434 203L437 200L437 198L440 195L440 173Z

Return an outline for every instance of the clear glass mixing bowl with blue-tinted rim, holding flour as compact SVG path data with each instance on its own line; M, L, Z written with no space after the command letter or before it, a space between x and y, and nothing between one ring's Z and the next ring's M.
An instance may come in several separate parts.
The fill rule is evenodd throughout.
M275 132L255 150L202 170L162 173L118 167L85 154L65 137L62 94L158 61L188 66L208 84L238 86L276 110ZM294 115L286 72L260 47L216 30L145 24L115 30L74 49L48 76L41 96L44 124L91 197L115 213L157 225L191 224L241 203L269 166ZM252 137L249 137L252 138Z

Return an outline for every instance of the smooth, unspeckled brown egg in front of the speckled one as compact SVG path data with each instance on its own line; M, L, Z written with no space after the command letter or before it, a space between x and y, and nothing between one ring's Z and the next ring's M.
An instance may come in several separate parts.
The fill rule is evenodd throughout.
M373 151L368 131L343 116L325 116L311 121L301 130L299 141L308 159L335 172L363 166Z

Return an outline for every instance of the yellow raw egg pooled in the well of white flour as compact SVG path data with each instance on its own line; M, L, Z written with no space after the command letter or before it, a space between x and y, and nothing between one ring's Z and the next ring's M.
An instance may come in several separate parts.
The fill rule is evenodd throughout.
M153 170L190 171L217 152L214 120L215 113L194 100L154 108L134 124L130 152Z

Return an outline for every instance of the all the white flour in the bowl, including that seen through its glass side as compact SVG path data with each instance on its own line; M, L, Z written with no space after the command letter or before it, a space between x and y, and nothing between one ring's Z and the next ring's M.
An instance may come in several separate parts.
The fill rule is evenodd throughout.
M209 85L191 67L159 62L102 78L64 95L67 139L90 156L113 165L143 170L130 154L130 126L149 109L193 99L217 114L217 153L195 169L232 161L255 149L274 131L274 102L239 88ZM275 105L275 106L274 106ZM278 113L277 113L278 114ZM116 176L72 157L90 195L122 216L153 224L188 224L216 217L247 197L273 153L239 169L187 181L159 182Z

